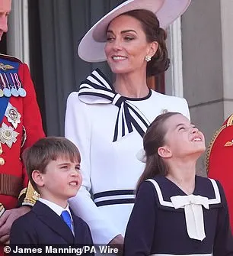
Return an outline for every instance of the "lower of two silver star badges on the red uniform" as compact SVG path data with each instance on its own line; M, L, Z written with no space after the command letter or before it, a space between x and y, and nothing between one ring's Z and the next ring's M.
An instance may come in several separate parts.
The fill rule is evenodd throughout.
M14 131L11 126L2 123L2 128L0 128L0 141L3 144L7 144L11 148L12 144L17 141L18 132Z

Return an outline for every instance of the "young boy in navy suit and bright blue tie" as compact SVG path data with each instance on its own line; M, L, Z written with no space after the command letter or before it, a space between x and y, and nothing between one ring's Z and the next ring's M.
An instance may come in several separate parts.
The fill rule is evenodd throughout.
M80 154L75 144L66 138L42 138L25 152L24 164L40 198L30 212L13 223L11 245L91 247L88 225L73 214L67 202L76 195L82 181Z

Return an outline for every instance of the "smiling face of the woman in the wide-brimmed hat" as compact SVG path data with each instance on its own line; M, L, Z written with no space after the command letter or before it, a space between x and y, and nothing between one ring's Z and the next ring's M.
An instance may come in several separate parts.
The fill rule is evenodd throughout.
M152 51L152 44L146 41L140 21L120 15L107 28L104 50L113 73L131 73L146 69L145 56Z

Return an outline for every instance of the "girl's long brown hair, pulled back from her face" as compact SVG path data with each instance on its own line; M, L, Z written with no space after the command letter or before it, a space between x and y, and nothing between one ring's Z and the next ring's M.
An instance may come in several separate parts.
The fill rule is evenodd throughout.
M168 174L168 165L164 163L162 157L158 154L158 147L164 146L164 137L167 133L164 128L164 123L173 115L178 115L178 112L167 112L158 115L145 132L143 138L143 147L145 150L145 170L139 178L137 190L143 181L151 179L158 174L166 176ZM181 115L181 114L180 114Z

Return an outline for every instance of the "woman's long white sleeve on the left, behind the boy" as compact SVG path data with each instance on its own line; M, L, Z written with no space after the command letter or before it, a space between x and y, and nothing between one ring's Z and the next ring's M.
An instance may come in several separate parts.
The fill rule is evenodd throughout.
M91 115L88 114L88 105L78 99L78 92L72 92L67 100L65 137L81 153L83 183L77 195L69 200L69 204L75 214L88 223L94 244L108 244L119 232L91 199Z

